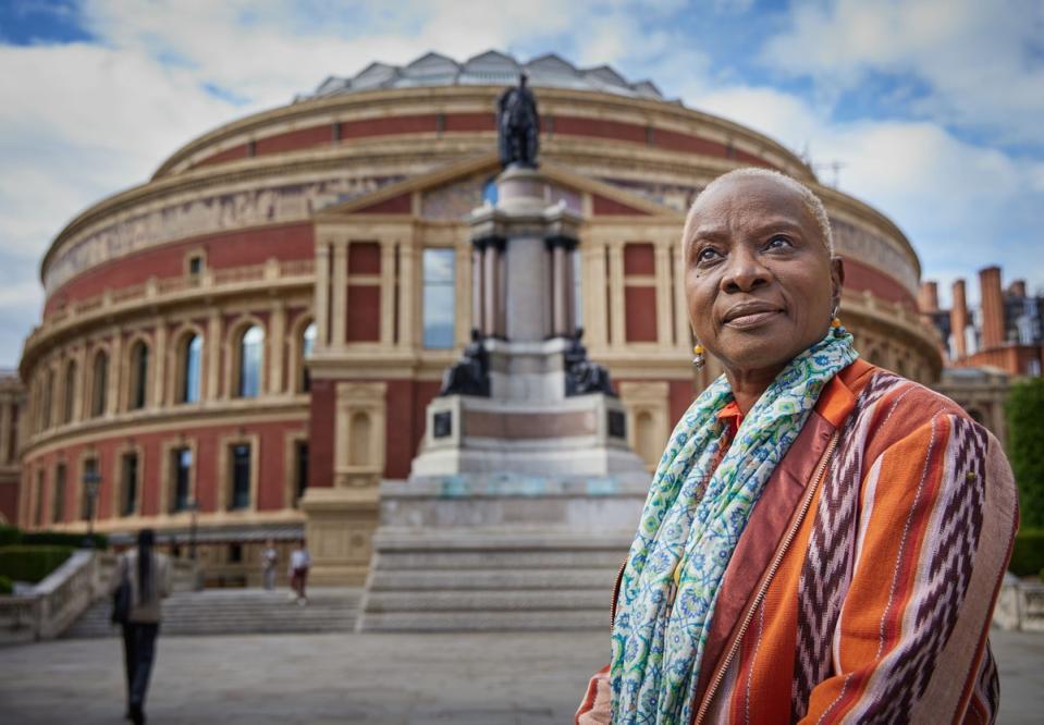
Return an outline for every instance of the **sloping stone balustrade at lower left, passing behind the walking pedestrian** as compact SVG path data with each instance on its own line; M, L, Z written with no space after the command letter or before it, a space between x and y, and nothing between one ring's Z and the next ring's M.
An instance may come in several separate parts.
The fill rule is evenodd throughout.
M53 639L113 588L118 557L79 549L27 594L0 597L0 644ZM198 567L171 561L171 588L198 588Z

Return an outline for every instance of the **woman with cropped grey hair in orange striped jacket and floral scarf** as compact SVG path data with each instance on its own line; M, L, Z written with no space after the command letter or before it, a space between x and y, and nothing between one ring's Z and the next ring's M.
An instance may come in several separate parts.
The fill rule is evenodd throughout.
M992 721L1017 525L997 441L859 359L798 182L717 179L683 244L695 362L725 374L661 458L577 722Z

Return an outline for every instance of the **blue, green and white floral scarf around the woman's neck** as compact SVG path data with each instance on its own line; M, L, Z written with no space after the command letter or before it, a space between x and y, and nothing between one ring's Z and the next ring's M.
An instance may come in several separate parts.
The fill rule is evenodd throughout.
M614 723L692 717L722 577L765 482L823 386L858 357L848 333L793 360L744 418L717 468L733 400L722 376L681 416L653 477L621 579L613 623Z

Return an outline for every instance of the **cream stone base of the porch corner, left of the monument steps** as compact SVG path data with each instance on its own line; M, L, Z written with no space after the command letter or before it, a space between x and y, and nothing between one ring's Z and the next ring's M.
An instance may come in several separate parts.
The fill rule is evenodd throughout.
M309 488L300 508L311 554L308 582L321 587L364 583L377 528L377 488Z

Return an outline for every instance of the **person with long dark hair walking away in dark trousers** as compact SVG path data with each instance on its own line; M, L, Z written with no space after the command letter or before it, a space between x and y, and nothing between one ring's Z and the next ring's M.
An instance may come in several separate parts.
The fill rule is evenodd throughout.
M156 636L161 619L160 602L170 593L170 558L152 550L152 529L138 532L137 548L120 557L119 600L113 618L123 626L123 663L127 678L126 718L145 722L145 695L156 658Z

